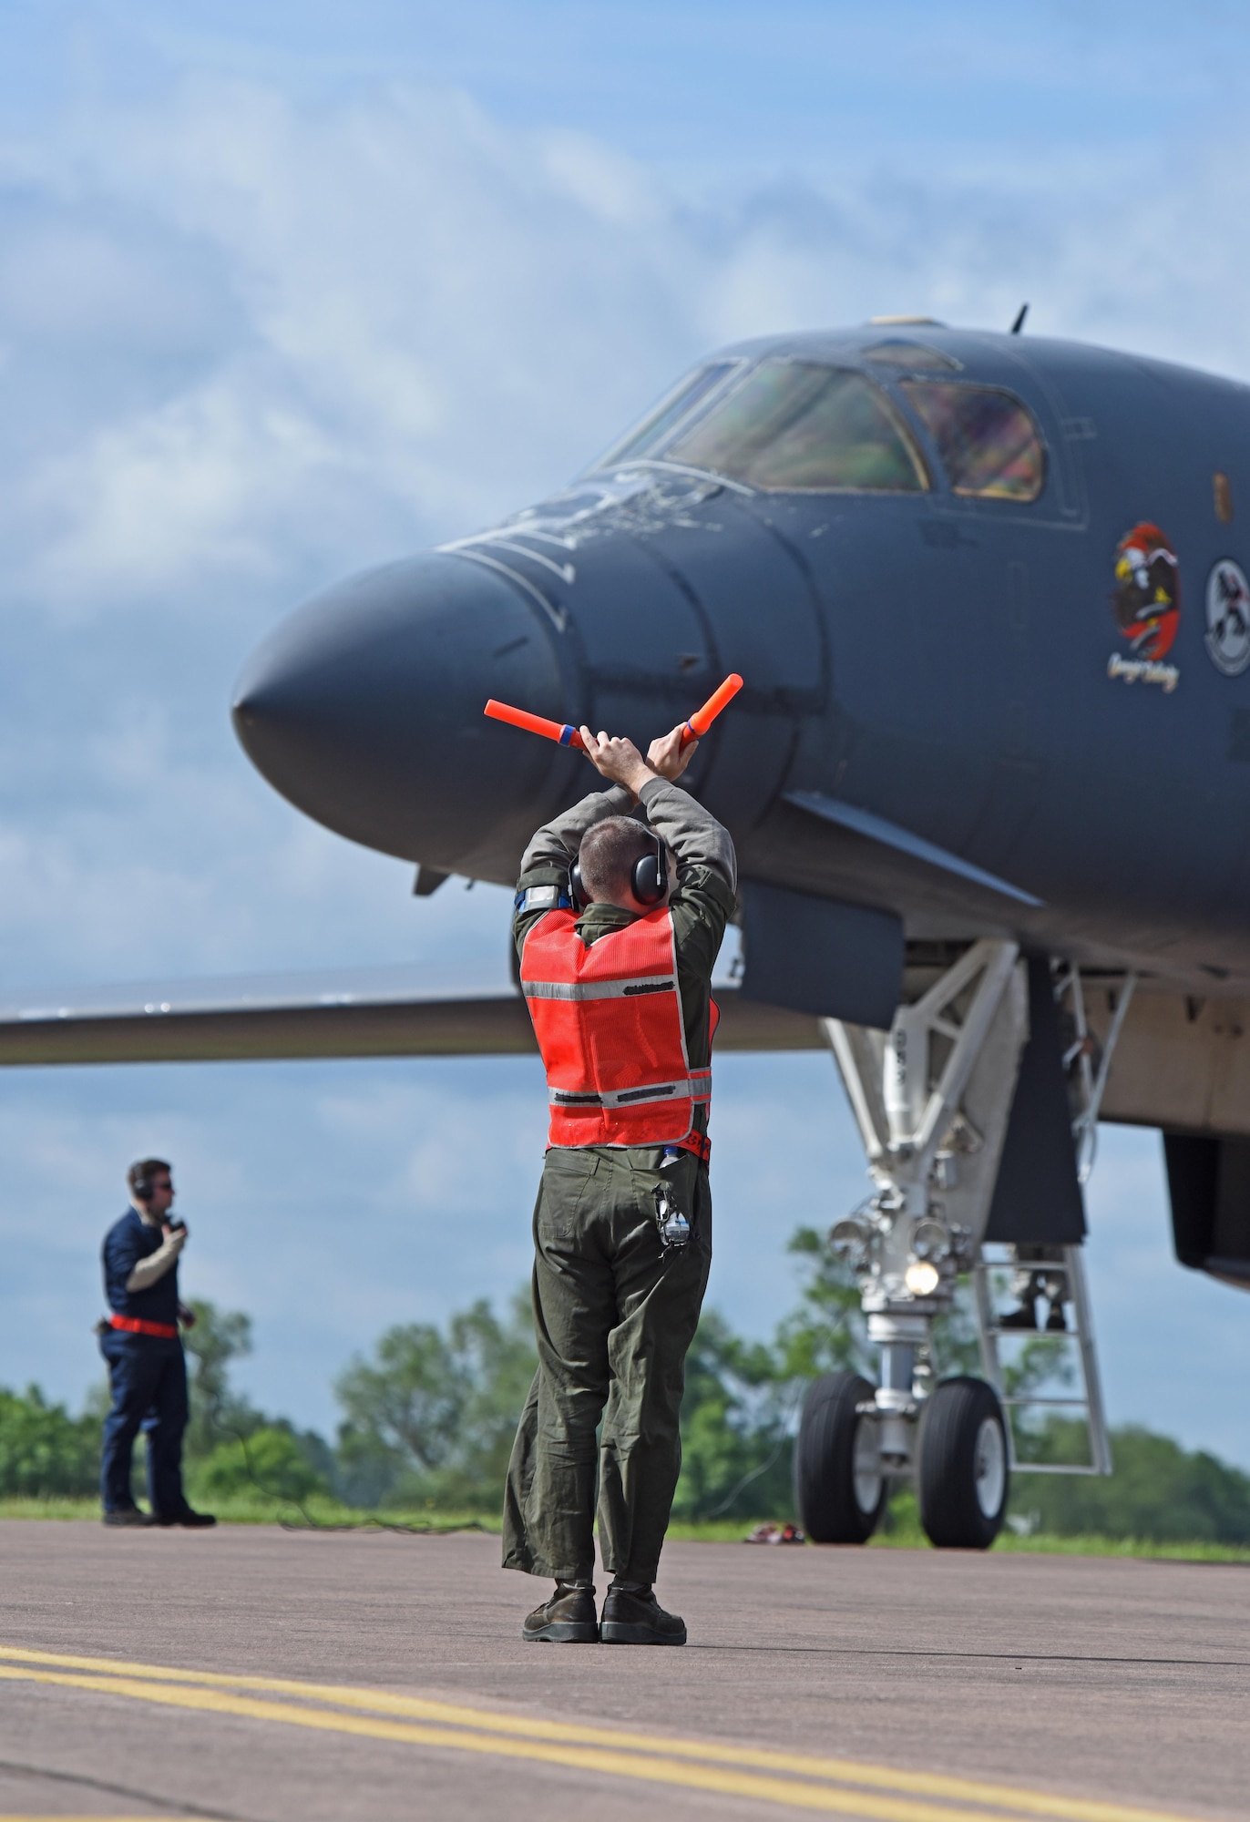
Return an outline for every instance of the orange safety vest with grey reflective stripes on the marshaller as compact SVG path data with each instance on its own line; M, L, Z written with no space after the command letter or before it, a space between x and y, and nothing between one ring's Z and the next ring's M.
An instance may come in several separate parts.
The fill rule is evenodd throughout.
M574 911L525 938L521 991L547 1070L548 1144L674 1144L707 1159L694 1108L712 1071L691 1070L667 906L589 947ZM720 1013L711 1008L709 1042Z

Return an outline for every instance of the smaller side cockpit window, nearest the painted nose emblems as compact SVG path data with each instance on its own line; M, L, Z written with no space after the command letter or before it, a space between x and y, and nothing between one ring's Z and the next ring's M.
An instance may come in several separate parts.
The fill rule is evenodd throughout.
M1009 392L904 379L907 403L938 446L953 494L975 499L1037 499L1046 448L1031 414Z

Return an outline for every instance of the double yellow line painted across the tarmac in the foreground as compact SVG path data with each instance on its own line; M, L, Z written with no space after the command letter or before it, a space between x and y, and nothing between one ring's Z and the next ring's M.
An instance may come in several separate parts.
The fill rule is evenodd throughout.
M230 1674L222 1671L184 1671L171 1665L129 1663L117 1658L27 1651L15 1645L0 1645L0 1658L9 1660L7 1667L0 1665L0 1678L7 1682L51 1684L93 1691L97 1694L118 1694L166 1707L235 1715L250 1720L268 1720L414 1745L452 1747L487 1753L496 1758L521 1758L583 1771L605 1771L614 1776L645 1782L680 1784L691 1789L753 1796L787 1807L869 1817L875 1822L989 1822L984 1813L986 1809L1008 1809L1015 1815L1057 1818L1057 1822L1183 1822L1183 1818L1168 1817L1159 1809L1050 1796L1040 1791L1024 1791L1006 1784L984 1784L942 1773L900 1771L887 1766L871 1766L824 1755L778 1753L767 1747L734 1747L711 1740L678 1740L652 1733L641 1735L623 1729L589 1727L578 1722L548 1722L538 1716L499 1715L492 1709L435 1702L425 1696L401 1696L390 1691L359 1689L343 1684L310 1684L292 1678ZM49 1669L36 1669L35 1665L49 1665ZM58 1669L51 1669L51 1665ZM77 1674L82 1671L91 1674ZM410 1720L405 1724L386 1718L364 1718L364 1715L335 1715L326 1713L324 1707L293 1707L286 1702L262 1702L224 1693L231 1689L293 1694L304 1702L333 1704L339 1709L363 1709L370 1716L395 1715L410 1716ZM414 1720L426 1725L414 1725ZM430 1722L441 1722L443 1725L428 1725ZM645 1756L638 1756L638 1753ZM691 1760L702 1764L691 1764ZM789 1776L754 1776L723 1767L751 1767L753 1773L773 1771L787 1773ZM791 1782L794 1776L825 1782L822 1786L794 1784ZM911 1802L906 1796L871 1796L864 1789L829 1789L829 1780L893 1793L907 1791L927 1800ZM971 1802L978 1809L951 1809L951 1802ZM7 1818L0 1818L0 1822L7 1822Z

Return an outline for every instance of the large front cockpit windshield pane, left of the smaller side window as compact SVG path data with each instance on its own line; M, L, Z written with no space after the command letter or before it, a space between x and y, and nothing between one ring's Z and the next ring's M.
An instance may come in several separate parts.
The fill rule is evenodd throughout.
M663 456L767 492L920 494L929 485L886 394L862 374L813 361L762 361Z

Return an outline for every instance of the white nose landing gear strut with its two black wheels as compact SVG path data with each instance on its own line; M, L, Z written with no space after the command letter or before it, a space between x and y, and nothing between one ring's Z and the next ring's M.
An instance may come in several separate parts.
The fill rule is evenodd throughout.
M818 1543L864 1543L889 1479L917 1485L933 1543L988 1549L1008 1501L1008 1430L984 1379L927 1385L933 1319L978 1255L1020 1053L1026 969L1013 942L971 944L929 969L889 1033L824 1020L867 1153L875 1193L836 1223L860 1279L880 1385L825 1374L794 1447L800 1518Z

